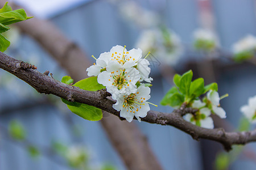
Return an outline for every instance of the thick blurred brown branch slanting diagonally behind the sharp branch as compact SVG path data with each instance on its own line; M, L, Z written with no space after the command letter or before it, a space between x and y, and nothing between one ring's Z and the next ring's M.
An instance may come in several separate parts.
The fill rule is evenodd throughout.
M5 1L0 0L0 3L3 5ZM22 8L15 3L11 3L11 7ZM90 66L86 54L75 42L68 40L59 28L47 20L37 18L16 25L23 33L38 41L75 81L86 78L85 71L81 71ZM135 124L121 124L119 118L113 116L102 119L100 123L128 169L162 169L147 140Z

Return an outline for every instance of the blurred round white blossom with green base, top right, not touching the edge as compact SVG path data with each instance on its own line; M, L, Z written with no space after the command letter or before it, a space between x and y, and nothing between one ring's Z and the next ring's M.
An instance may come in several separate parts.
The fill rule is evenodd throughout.
M194 46L199 50L212 51L219 45L217 36L208 29L196 29L193 33Z

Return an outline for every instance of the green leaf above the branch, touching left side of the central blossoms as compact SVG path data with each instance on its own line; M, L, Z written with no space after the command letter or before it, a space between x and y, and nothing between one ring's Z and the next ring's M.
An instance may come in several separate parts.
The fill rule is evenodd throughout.
M98 83L97 76L90 76L89 78L82 79L79 82L76 82L74 86L88 91L97 91L105 88L105 86Z

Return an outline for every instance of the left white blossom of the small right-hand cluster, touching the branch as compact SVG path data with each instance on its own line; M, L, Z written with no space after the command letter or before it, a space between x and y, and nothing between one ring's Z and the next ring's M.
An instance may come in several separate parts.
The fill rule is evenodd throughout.
M192 108L199 109L195 114L187 113L183 116L185 121L191 122L194 125L201 126L202 128L213 129L213 120L210 116L210 109L204 107L205 103L201 100L195 100Z

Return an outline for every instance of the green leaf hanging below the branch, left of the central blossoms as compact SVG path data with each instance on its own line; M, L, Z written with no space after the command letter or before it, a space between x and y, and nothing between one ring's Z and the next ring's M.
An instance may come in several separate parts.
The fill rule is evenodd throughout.
M99 121L102 118L102 111L96 107L81 104L80 107L74 107L72 105L67 105L71 112L77 114L78 116L89 120L89 121Z

